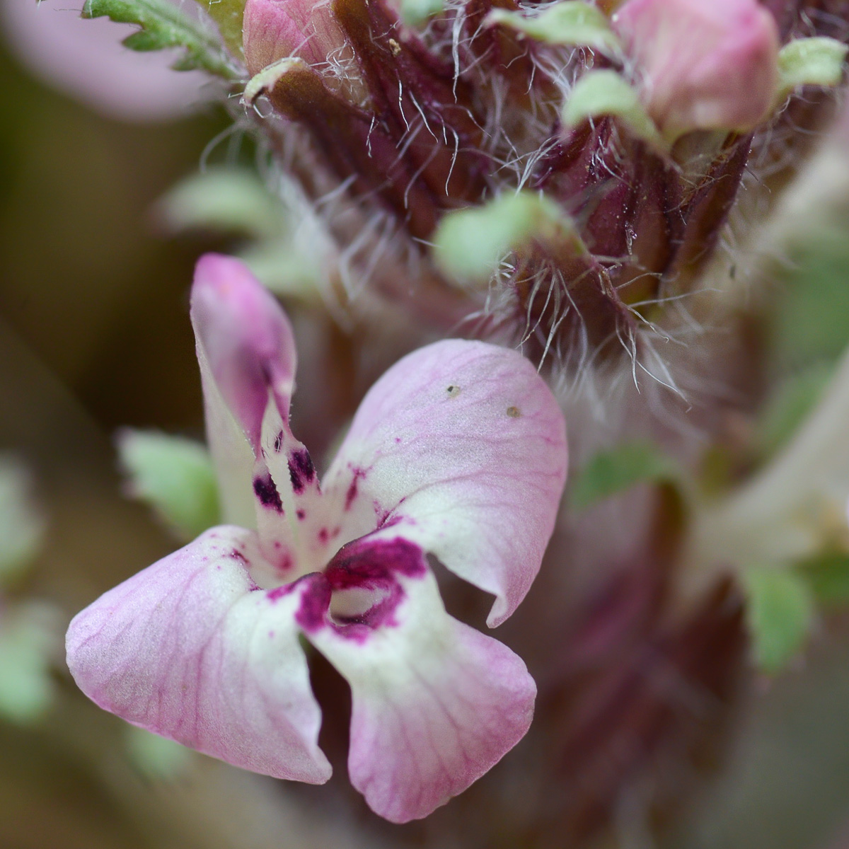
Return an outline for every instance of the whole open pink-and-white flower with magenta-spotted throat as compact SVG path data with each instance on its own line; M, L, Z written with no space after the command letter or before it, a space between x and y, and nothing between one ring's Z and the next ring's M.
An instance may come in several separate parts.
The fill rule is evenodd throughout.
M503 644L448 616L436 556L524 598L565 482L562 413L515 351L447 340L368 392L323 486L289 429L295 346L238 261L205 256L192 321L228 520L71 622L97 704L209 755L326 781L303 634L351 685L351 782L394 822L424 817L509 751L536 687Z

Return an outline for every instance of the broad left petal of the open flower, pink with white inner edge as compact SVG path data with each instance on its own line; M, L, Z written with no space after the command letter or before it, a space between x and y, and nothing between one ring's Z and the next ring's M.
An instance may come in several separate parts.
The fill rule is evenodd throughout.
M256 773L312 784L318 749L295 610L309 582L261 591L256 535L221 526L105 593L70 623L68 666L96 704Z

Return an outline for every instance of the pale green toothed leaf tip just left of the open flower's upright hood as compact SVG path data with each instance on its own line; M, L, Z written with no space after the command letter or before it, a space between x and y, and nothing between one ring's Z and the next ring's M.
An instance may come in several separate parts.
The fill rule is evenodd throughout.
M220 521L215 470L200 442L155 431L122 430L118 453L129 492L184 539Z

